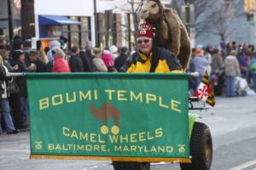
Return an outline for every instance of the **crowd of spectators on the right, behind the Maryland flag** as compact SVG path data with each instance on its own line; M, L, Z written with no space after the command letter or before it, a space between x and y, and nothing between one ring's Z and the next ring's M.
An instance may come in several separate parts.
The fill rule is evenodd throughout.
M256 52L254 46L247 43L197 45L192 51L188 71L199 72L197 79L189 80L191 94L195 93L205 71L211 76L217 96L254 95L256 92Z

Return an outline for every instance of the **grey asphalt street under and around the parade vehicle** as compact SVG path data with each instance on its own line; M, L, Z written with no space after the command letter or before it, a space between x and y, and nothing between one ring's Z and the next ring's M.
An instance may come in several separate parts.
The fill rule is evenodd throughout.
M193 112L211 129L212 170L256 170L256 96L217 98L209 111ZM29 131L0 136L0 170L113 170L110 161L31 160L29 154ZM179 166L160 163L151 169Z

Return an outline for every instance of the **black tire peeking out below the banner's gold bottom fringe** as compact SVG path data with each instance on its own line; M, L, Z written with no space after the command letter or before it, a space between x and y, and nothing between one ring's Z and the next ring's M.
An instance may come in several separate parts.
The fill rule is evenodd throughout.
M114 170L150 170L149 162L113 161Z

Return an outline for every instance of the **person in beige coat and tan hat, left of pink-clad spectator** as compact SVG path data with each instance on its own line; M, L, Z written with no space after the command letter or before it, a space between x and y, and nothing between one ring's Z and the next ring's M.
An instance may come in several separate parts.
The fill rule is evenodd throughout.
M93 48L91 51L92 54L92 64L95 65L96 71L99 72L108 72L108 68L102 60L102 49L101 48Z

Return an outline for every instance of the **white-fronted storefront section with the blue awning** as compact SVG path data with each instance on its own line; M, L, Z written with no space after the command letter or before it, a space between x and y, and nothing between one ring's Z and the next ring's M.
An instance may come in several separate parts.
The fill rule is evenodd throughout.
M67 37L69 46L95 42L93 0L34 0L35 37L46 46L58 37Z

